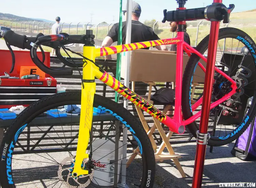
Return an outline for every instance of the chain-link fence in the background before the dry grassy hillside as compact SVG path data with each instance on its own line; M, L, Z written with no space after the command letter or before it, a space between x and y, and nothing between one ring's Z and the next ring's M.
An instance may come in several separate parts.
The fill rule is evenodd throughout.
M0 20L0 25L9 27L14 31L21 31L26 33L43 33L51 34L52 26L55 22L37 22L37 21L7 21ZM160 39L173 38L176 33L170 31L169 23L162 23L160 20L145 20L144 24L153 28L154 32ZM91 24L89 22L83 23L60 23L62 32L68 34L85 34L86 29L93 30L95 38L98 41L97 46L100 46L101 41L106 37L113 23L101 22L98 24ZM256 39L256 21L249 19L232 19L228 24L221 23L220 28L234 27L243 30L255 41ZM206 20L187 21L187 33L190 37L190 45L197 46L197 44L206 37L210 32L210 22Z

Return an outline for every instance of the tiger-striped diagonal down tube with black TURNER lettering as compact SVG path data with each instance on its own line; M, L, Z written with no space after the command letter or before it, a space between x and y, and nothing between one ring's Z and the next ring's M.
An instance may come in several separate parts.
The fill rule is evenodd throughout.
M118 93L120 93L126 99L130 100L132 103L139 106L142 110L144 110L154 118L158 119L160 122L166 120L167 116L165 114L156 109L152 104L148 103L142 97L131 91L129 88L125 87L122 83L120 83L117 79L112 77L109 73L104 71L104 73L98 79L104 82L106 85L110 86Z

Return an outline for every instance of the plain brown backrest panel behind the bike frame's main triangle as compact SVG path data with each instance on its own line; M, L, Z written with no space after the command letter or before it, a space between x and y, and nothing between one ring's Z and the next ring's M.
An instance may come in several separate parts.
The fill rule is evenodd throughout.
M131 53L130 81L136 82L175 82L176 52L138 49ZM183 73L189 56L183 55ZM206 63L200 61L204 67ZM124 64L124 63L122 63ZM121 66L121 77L125 68ZM123 72L123 74L122 74ZM193 82L204 82L204 72L197 68Z

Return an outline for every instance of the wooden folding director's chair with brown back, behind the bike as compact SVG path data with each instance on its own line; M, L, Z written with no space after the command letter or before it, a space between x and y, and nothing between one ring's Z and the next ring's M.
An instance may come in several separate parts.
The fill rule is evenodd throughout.
M187 55L183 56L183 72L185 70L187 61L189 57ZM158 51L158 50L143 50L139 49L136 51L133 51L131 54L131 62L130 62L130 81L132 81L132 90L134 91L135 88L135 82L144 82L149 85L148 90L148 96L142 96L144 99L147 99L148 102L154 105L165 105L165 109L163 110L163 113L167 113L167 111L170 109L171 106L174 105L173 103L159 103L157 101L151 100L151 92L152 87L156 85L155 82L175 82L175 71L176 71L176 54L175 52L168 52L168 51ZM122 74L122 73L121 73ZM197 83L193 83L193 90L192 95L194 95L195 87L197 86ZM172 87L174 84L172 84ZM173 89L173 88L172 88ZM191 97L193 99L193 97ZM195 101L191 101L192 103ZM151 122L151 120L146 120L143 112L141 109L134 105L136 108L136 111L139 115L140 121L147 132L151 144L155 151L155 159L156 161L163 161L171 159L179 172L181 173L182 177L185 177L185 173L181 167L181 164L179 162L179 158L181 158L180 155L175 154L169 140L173 134L172 131L169 131L167 134L163 130L161 123L153 118L153 126L149 127L148 122ZM160 137L162 138L162 143L158 147L154 138L153 133L158 130ZM168 153L164 153L163 150L167 148ZM127 161L127 167L131 162L134 160L134 158L138 155L139 148L136 148L133 151L133 155L129 158Z

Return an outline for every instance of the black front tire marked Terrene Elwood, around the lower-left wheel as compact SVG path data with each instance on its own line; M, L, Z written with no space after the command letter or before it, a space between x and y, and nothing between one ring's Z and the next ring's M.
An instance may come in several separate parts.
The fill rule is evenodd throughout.
M20 175L20 177L18 175L16 175L16 179L15 179L15 177L13 176L13 173L15 173L15 172L13 172L13 166L12 166L13 159L15 159L15 157L11 156L11 158L10 157L8 158L8 151L10 149L11 143L12 142L14 143L14 148L15 148L15 146L17 146L17 143L15 143L15 141L19 141L18 138L16 138L17 135L20 136L20 135L23 135L26 133L26 132L22 133L23 130L25 131L25 129L22 127L25 124L29 124L29 122L31 122L35 117L38 117L40 114L44 113L46 110L53 109L54 107L57 107L57 106L67 105L67 104L81 104L81 93L80 92L65 92L65 93L59 93L56 95L52 95L52 96L43 98L43 99L31 104L29 107L27 107L27 109L24 110L13 121L11 127L7 130L6 134L4 135L4 139L3 139L1 147L0 147L1 156L2 156L3 152L6 154L5 155L6 158L3 158L3 160L0 161L0 172L1 172L0 182L1 182L2 187L14 188L14 187L16 187L15 181L17 180L17 177L19 180L22 178L26 178L26 177L22 177L22 175ZM94 106L98 106L98 105L104 106L106 109L109 109L109 110L115 112L116 114L118 114L120 117L122 117L124 119L124 121L126 121L128 123L127 125L130 125L132 130L135 132L135 134L133 134L133 135L136 135L137 139L140 141L141 148L143 151L143 153L141 155L142 168L140 169L142 172L142 176L140 176L140 177L137 176L137 179L141 179L141 180L137 180L137 181L139 181L139 184L141 182L141 187L153 187L154 177L155 177L154 151L153 151L151 142L150 142L146 132L144 131L142 125L140 124L140 122L138 120L136 120L130 112L128 112L125 108L123 108L122 105L117 104L114 101L104 98L102 96L95 95ZM131 130L131 128L129 128L128 131ZM26 129L28 129L28 128L26 128ZM63 128L62 128L62 130L63 130ZM72 128L71 128L71 131L72 131ZM18 134L17 134L17 132L18 132ZM16 137L15 137L15 135L16 135ZM72 134L71 134L71 136L72 136ZM19 142L22 143L21 141L19 141ZM138 141L137 141L137 143L138 143ZM7 151L6 151L6 147L4 147L6 145L8 145ZM43 146L41 146L41 147L43 147ZM11 151L13 151L13 155L15 155L15 149L11 148ZM47 151L47 150L45 150L45 151ZM32 154L33 153L31 153L31 155ZM18 155L15 155L15 156L18 156ZM34 156L37 156L37 155L34 155ZM9 164L8 162L11 164ZM20 163L19 165L22 165L22 163ZM9 172L9 179L8 179L7 170L8 170L8 167L10 167L10 166L12 166L12 171ZM129 168L130 167L127 168L127 172L129 171ZM131 172L131 173L134 174L134 176L136 176L136 172ZM31 176L33 176L33 173L31 173ZM12 179L10 179L10 177ZM9 184L8 183L9 180L12 180L11 182L13 182L14 184ZM133 183L136 184L135 182L133 182ZM133 186L137 187L135 185L133 185ZM133 186L131 186L131 187L133 187ZM18 186L18 187L20 187L20 186ZM59 187L59 185L58 185L58 187Z

